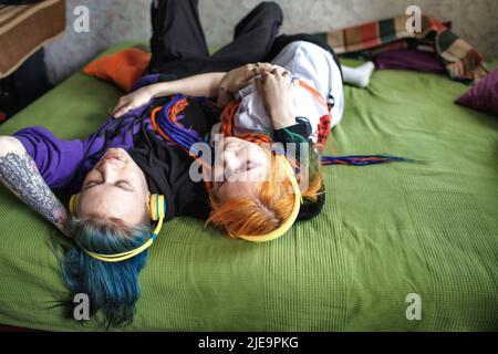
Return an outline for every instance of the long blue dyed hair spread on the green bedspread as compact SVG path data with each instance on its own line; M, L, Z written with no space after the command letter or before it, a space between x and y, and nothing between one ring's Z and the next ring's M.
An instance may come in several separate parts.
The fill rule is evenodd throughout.
M103 254L129 251L151 238L149 225L123 228L106 220L71 217L69 227L77 244ZM141 295L138 273L147 253L121 262L103 262L76 247L63 258L62 274L74 294L89 295L91 315L102 310L108 325L126 324L133 320Z

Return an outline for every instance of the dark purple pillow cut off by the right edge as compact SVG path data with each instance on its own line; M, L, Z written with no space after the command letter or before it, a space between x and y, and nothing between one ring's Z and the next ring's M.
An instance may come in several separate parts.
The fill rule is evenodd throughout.
M479 80L455 103L498 116L498 69Z

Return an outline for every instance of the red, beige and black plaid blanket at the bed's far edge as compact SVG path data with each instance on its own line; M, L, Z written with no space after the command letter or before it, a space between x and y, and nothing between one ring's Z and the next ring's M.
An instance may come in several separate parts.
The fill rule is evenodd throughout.
M372 58L390 50L415 48L437 53L453 80L477 82L487 74L481 54L438 20L422 15L419 32L407 31L409 20L408 15L400 15L315 35L338 54L361 52Z

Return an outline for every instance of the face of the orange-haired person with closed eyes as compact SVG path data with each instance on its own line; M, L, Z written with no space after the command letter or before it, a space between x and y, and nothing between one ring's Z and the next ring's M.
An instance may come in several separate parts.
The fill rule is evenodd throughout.
M237 137L225 137L214 166L215 194L221 201L251 197L270 176L271 162L264 149Z

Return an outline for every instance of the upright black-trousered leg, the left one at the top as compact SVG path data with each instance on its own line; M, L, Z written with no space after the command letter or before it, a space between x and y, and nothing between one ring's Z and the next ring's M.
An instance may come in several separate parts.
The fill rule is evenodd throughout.
M153 1L148 74L183 77L204 71L209 53L197 6L198 0Z

